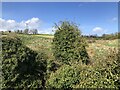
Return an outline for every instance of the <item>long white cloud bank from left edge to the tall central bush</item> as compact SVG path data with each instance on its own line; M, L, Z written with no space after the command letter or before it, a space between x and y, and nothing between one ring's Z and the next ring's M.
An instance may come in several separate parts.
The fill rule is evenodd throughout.
M7 31L7 30L24 30L25 28L29 29L37 29L38 33L42 34L53 34L54 28L47 27L42 28L43 22L39 18L31 18L28 20L22 20L21 22L16 22L15 20L5 20L0 18L0 31ZM26 26L27 25L27 26Z

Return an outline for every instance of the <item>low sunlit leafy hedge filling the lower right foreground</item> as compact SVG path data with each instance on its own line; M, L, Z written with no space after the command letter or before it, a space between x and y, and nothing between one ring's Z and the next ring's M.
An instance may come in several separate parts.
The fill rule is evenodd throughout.
M49 88L116 88L120 89L120 55L111 51L103 57L96 55L94 65L63 65L51 73Z

